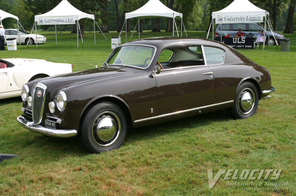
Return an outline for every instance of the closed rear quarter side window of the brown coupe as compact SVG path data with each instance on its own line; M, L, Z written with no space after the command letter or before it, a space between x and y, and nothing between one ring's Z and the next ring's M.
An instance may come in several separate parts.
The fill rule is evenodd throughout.
M204 46L205 58L207 65L223 63L225 59L225 52L220 48Z

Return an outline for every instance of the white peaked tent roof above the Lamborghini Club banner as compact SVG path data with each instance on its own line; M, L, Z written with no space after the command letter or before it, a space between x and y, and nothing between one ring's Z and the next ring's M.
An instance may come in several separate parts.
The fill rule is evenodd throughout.
M80 20L82 18L89 18L94 20L93 14L86 14L76 9L67 0L62 0L54 9L46 12L45 14L40 14L35 16L35 22L38 21L38 17L59 17L59 16L73 16L75 20Z

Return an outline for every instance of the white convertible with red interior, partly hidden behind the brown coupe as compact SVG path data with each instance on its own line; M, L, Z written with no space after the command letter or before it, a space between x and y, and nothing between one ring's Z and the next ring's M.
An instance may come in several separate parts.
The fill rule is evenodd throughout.
M0 59L0 99L18 97L29 81L72 72L73 65L40 59Z

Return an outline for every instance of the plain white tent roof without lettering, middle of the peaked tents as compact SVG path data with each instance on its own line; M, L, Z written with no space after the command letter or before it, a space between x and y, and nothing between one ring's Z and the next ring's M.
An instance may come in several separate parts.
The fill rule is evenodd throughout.
M159 0L149 0L145 5L139 9L126 13L126 19L129 18L155 18L155 17L164 17L164 18L176 18L182 19L183 14L171 10Z

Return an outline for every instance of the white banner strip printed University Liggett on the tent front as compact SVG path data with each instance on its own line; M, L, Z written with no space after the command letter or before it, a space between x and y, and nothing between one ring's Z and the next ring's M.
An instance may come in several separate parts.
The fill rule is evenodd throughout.
M229 23L250 23L250 22L263 22L264 15L258 14L219 14L216 15L216 24L229 24Z

